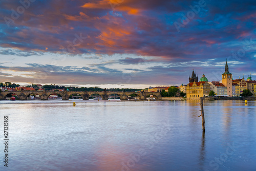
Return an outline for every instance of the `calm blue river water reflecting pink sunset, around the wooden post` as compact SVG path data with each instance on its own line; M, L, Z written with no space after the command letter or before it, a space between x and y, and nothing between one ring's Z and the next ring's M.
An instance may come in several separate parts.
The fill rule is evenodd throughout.
M0 101L0 170L256 170L256 101L205 101L205 134L199 110L199 101Z

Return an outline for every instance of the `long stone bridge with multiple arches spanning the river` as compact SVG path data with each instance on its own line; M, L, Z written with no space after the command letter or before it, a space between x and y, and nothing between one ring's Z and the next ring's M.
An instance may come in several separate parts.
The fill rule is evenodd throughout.
M139 99L144 100L148 95L153 95L157 100L161 99L160 92L79 92L79 91L4 91L0 93L0 100L6 99L9 94L16 94L18 100L27 100L31 94L38 94L41 100L48 100L48 97L52 94L58 94L62 97L62 100L69 100L70 95L79 94L82 96L83 100L89 100L89 97L97 94L101 96L102 100L108 100L109 96L116 94L120 96L121 100L127 100L128 96L135 94Z

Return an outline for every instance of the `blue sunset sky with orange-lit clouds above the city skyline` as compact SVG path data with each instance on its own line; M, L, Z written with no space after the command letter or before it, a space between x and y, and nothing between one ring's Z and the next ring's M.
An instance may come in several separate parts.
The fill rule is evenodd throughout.
M101 88L256 78L256 2L1 0L0 82Z

